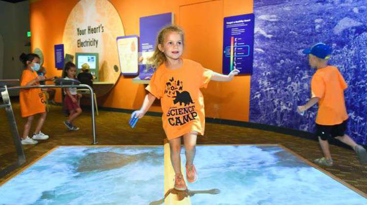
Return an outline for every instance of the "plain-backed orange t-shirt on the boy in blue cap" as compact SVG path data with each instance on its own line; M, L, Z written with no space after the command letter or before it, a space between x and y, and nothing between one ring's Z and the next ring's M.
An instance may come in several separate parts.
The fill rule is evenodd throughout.
M335 125L348 119L344 102L347 87L337 67L329 65L316 71L311 80L311 95L320 98L316 123Z

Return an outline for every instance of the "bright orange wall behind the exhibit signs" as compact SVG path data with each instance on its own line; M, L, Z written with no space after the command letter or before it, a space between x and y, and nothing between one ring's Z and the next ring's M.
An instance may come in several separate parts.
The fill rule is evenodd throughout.
M60 76L54 68L55 44L62 43L68 15L78 0L37 0L30 4L31 43L44 52L49 76ZM253 0L110 0L120 15L125 35L139 35L139 18L173 12L175 22L184 27L186 44L184 57L200 62L218 73L222 70L223 18L252 13ZM192 16L190 15L192 12ZM196 29L200 18L208 29ZM204 21L203 21L204 20ZM205 22L207 21L207 22ZM209 31L209 32L208 32ZM210 82L203 90L206 116L248 121L250 76L236 77L232 82ZM144 85L132 83L131 77L121 76L114 89L98 99L100 106L139 109L145 96ZM56 100L60 101L60 97ZM159 104L150 111L159 111Z

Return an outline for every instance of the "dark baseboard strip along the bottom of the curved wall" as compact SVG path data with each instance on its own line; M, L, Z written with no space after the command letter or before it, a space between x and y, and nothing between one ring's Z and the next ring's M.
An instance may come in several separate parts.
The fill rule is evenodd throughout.
M87 107L86 107L87 108ZM89 107L90 108L90 107ZM88 109L88 108L87 108ZM99 110L104 111L112 111L112 112L122 112L122 113L132 113L134 110L130 109L121 109L121 108L111 108L111 107L98 107ZM155 116L155 117L161 117L161 112L147 112L146 115L148 116ZM247 127L252 129L259 129L259 130L265 130L270 132L276 132L286 135L292 135L296 137L301 137L308 140L314 140L318 141L318 138L315 136L314 133L300 131L296 129L290 129L286 127L278 127L275 125L268 125L268 124L260 124L260 123L252 123L252 122L243 122L243 121L235 121L235 120L224 120L224 119L217 119L217 118L205 118L206 123L215 123L215 124L226 124L231 126L239 126L239 127ZM329 140L330 144L337 145L340 147L351 149L350 146L339 142L338 140L331 139ZM365 148L367 148L366 145L364 145Z

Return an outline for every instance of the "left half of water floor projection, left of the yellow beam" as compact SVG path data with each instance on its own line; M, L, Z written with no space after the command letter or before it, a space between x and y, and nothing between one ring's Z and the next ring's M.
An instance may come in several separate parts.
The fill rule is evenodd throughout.
M61 146L0 187L5 205L140 205L160 198L163 146Z

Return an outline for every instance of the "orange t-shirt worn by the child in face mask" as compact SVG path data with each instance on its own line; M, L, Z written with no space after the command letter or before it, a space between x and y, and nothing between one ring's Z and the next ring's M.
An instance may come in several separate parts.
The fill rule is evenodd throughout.
M35 71L23 70L21 86L25 86L28 82L37 78ZM34 85L39 85L36 83ZM44 94L41 88L21 89L19 93L19 103L21 105L22 117L32 116L37 113L46 112L46 105L44 104Z

